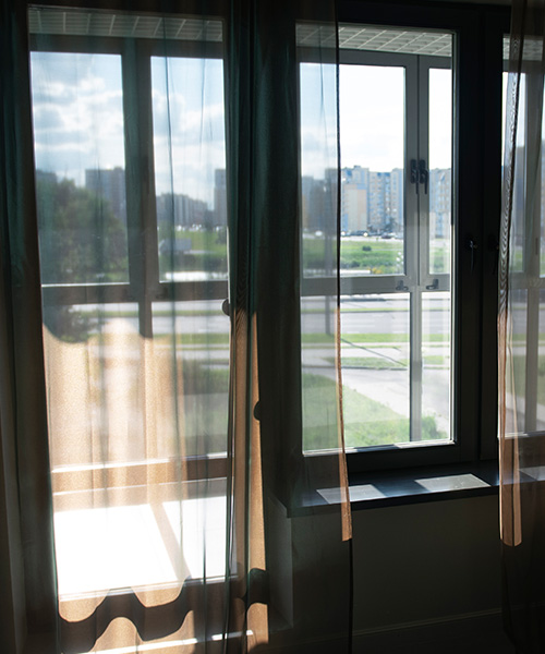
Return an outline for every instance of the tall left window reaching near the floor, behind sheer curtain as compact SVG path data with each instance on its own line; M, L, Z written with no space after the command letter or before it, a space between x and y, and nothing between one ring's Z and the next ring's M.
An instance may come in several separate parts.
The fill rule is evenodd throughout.
M168 589L187 577L214 583L225 574L221 23L208 21L208 40L193 43L201 21L140 19L29 10L56 548L66 620L80 619L82 602L110 589ZM153 38L158 27L170 40ZM105 51L96 52L97 43ZM204 124L194 122L195 104ZM195 129L205 134L201 148L191 160L174 157L172 167L169 147L189 152ZM183 342L168 342L172 320ZM171 347L182 414L173 410L179 388L156 383L172 378L171 359L161 354ZM99 385L100 375L107 378ZM157 400L149 410L147 393ZM208 493L194 497L190 481L183 501L171 501L164 483L160 501L149 501L143 493L149 479L177 480L177 420L184 423L186 476L206 475ZM89 429L90 443L81 437ZM203 523L199 502L208 502L214 524Z

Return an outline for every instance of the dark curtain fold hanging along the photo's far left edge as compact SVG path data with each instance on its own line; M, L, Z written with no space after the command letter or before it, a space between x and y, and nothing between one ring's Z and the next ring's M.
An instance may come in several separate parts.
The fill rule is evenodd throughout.
M0 48L0 434L8 528L0 633L5 651L22 651L28 637L53 652L56 568L24 3L2 2Z

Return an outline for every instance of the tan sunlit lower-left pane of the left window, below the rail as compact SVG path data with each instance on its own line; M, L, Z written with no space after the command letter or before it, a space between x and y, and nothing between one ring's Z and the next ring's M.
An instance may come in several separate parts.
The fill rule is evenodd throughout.
M136 304L44 306L53 471L145 459L137 316Z

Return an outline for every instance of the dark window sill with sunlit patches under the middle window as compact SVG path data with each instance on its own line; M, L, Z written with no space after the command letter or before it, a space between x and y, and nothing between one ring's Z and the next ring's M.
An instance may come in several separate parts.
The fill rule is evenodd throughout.
M350 475L350 505L353 511L424 501L463 499L496 495L499 488L497 461L477 465L449 464L403 471ZM336 488L324 488L303 499L303 512L325 510L340 502Z

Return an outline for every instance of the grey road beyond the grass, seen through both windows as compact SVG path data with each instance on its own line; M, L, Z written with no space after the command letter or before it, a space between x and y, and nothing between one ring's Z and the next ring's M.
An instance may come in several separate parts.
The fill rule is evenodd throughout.
M324 302L320 299L306 299L303 302L303 334L324 334ZM86 307L89 308L88 306ZM174 314L169 315L173 310ZM410 360L409 302L407 298L374 296L350 298L341 303L343 384L370 399L389 407L402 416L410 413ZM181 335L183 358L211 360L214 365L227 366L229 360L229 318L221 311L221 301L184 302L171 305L154 305L154 334ZM119 317L114 314L119 312ZM133 313L133 315L131 315ZM331 316L332 318L332 316ZM431 299L424 305L423 325L432 334L446 334L450 313L445 298ZM335 322L331 319L331 330ZM136 305L117 307L109 305L106 317L106 331L137 330ZM213 335L213 349L192 340L184 348L183 335ZM399 335L399 341L382 341L361 335ZM225 344L217 336L225 335ZM359 335L359 336L355 336ZM390 337L391 339L391 337ZM205 339L206 340L206 339ZM106 346L107 347L107 346ZM445 342L425 343L423 347L422 404L424 415L434 415L440 429L449 431L450 372L449 346ZM304 372L335 377L332 343L305 342L303 348ZM138 352L135 351L135 356ZM433 361L433 364L429 362ZM367 363L370 362L370 363ZM380 366L384 366L380 370ZM395 370L397 366L397 370Z

